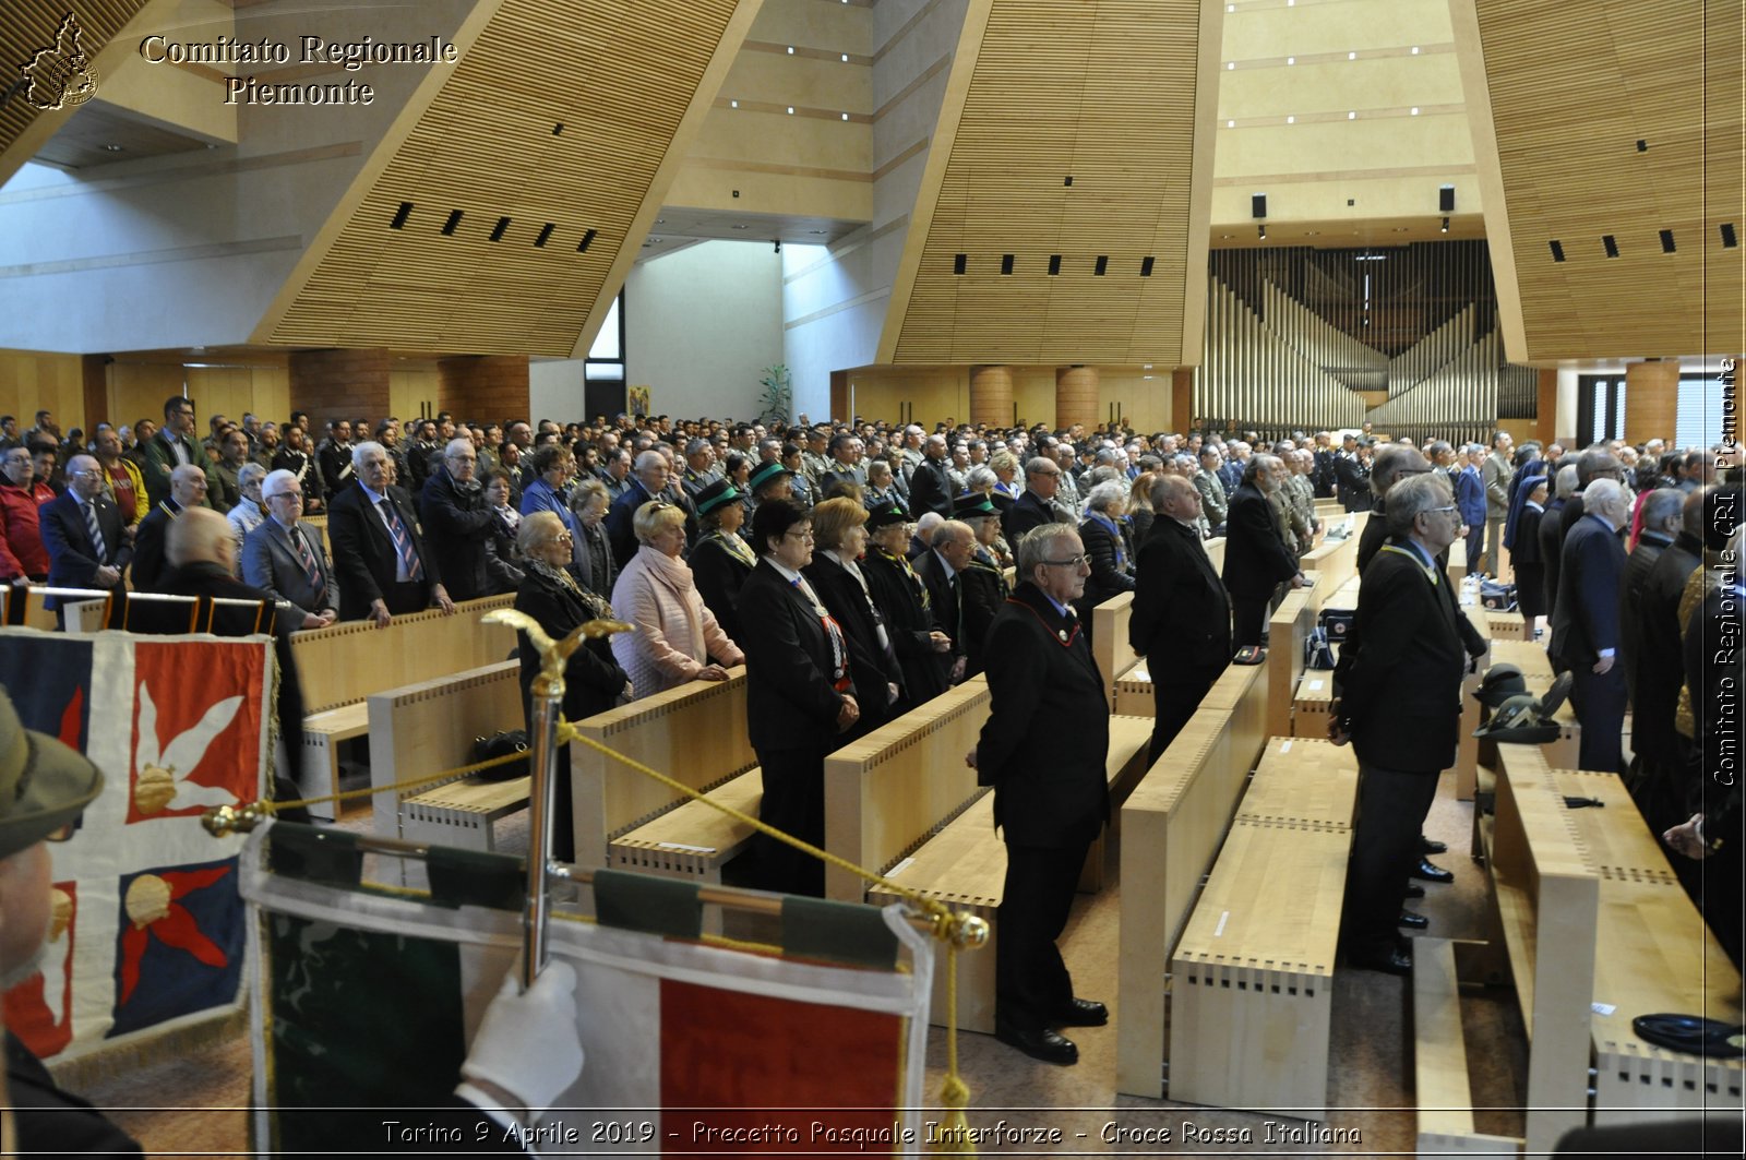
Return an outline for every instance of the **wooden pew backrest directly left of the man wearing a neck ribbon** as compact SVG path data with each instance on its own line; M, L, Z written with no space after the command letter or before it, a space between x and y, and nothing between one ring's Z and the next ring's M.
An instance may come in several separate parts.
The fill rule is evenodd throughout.
M976 798L964 755L988 720L988 683L966 681L824 760L824 847L887 870ZM824 896L861 901L866 882L824 868Z

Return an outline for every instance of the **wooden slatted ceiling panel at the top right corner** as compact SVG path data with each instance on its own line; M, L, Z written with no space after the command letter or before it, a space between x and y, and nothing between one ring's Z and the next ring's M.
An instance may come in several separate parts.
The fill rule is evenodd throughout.
M1526 335L1510 358L1737 353L1741 0L1468 2Z

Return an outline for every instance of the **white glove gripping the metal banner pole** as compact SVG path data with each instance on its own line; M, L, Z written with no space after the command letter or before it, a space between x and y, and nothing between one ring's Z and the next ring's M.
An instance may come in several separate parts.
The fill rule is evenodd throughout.
M456 1094L491 1104L492 1095L503 1092L526 1108L533 1122L580 1074L576 968L552 959L526 994L519 991L515 971L505 975L503 989L473 1036L473 1050L461 1064L463 1083Z

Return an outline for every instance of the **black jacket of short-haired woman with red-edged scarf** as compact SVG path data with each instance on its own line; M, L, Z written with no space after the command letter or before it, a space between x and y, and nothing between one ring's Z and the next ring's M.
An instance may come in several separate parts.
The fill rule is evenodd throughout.
M746 652L746 732L753 748L829 753L840 735L843 694L831 687L831 638L812 601L768 561L758 561L740 587L740 620L746 639L735 643ZM854 669L849 676L854 681Z

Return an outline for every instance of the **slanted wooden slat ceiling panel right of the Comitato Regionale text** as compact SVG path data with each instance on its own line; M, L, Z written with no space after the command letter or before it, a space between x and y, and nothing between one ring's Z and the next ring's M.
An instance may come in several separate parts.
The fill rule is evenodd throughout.
M505 0L267 339L569 356L660 206L681 121L712 96L705 70L756 7Z

